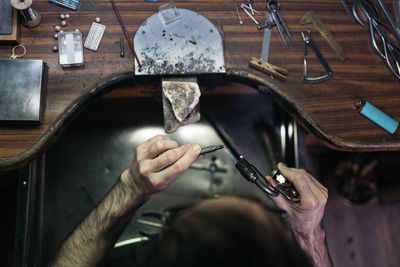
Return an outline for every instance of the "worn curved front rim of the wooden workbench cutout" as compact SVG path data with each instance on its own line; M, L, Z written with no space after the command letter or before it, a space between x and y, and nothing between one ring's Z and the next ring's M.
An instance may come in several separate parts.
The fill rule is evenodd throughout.
M382 140L372 140L361 142L357 140L346 140L335 136L326 128L324 128L318 120L316 120L309 112L299 105L293 98L265 74L249 71L248 69L227 69L225 75L228 79L237 80L243 84L254 87L261 93L268 93L280 104L289 114L294 116L304 128L315 134L319 139L328 146L346 151L378 151L378 150L395 150L391 147L399 147L399 142L389 141L382 143ZM90 101L115 89L115 86L123 81L133 79L141 81L148 79L149 76L134 76L132 72L115 74L107 77L103 81L95 84L93 89L82 95L57 117L54 123L41 135L36 142L27 148L24 152L18 153L9 158L0 160L0 169L14 169L26 165L34 160L40 153L46 151L61 135L65 127L67 127L79 112L89 104ZM154 77L153 77L154 79ZM158 78L157 78L158 79Z

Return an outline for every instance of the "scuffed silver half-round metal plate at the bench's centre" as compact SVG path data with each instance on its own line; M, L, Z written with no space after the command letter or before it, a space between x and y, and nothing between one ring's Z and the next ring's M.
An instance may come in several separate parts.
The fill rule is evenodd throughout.
M223 42L215 26L196 12L178 11L179 21L164 25L156 13L140 26L134 45L143 66L139 70L135 62L135 74L225 73Z

